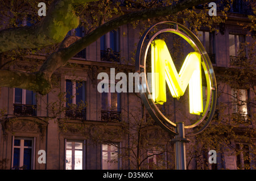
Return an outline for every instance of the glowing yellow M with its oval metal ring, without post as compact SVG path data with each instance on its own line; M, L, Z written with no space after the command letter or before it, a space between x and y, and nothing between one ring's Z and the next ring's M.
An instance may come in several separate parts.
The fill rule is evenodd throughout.
M155 32L157 26L161 27L159 31ZM162 26L167 26L167 28L162 28ZM148 38L150 32L154 33ZM194 49L194 51L189 53L185 58L179 73L175 68L166 43L162 39L157 39L160 33L175 33L187 41ZM148 74L148 64L146 64L146 62L150 48L151 74ZM166 131L172 134L177 134L177 132L171 128L173 127L176 130L177 124L172 123L156 106L156 104L163 104L167 101L166 82L172 97L178 100L180 96L184 95L188 87L189 113L200 116L199 120L191 125L184 125L184 128L194 128L202 123L204 119L207 119L206 123L198 132L189 135L198 134L208 127L214 115L217 102L216 78L207 52L200 40L188 30L188 28L175 22L160 22L148 28L142 35L138 44L135 57L135 69L137 73L142 73L138 87L139 90L141 90L143 103L152 119L159 123L163 129L166 129ZM202 73L205 74L204 77L207 83L205 106L203 106ZM180 122L183 122L183 120L180 120Z

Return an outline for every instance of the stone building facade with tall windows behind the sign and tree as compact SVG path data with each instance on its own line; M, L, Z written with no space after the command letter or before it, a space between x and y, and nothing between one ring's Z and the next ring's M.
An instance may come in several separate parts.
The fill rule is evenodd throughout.
M198 33L217 77L224 76L227 69L236 70L241 44L255 41L253 33L237 24L250 22L240 6L229 12L225 24L216 25L218 32L206 28ZM84 31L78 27L68 35L83 36ZM134 72L139 31L139 27L127 24L89 45L56 71L55 84L47 95L0 87L0 169L175 169L174 145L169 141L172 137L154 123L138 127L139 121L147 125L150 120L138 95L98 91L98 73L110 76L110 68L115 68L115 74ZM46 55L30 56L27 60L30 58L45 60ZM26 70L31 66L30 61L17 60L11 69ZM250 121L247 128L255 129L255 107L246 104L248 99L255 103L255 86L218 86L229 93L221 94L218 104L232 104L239 99L242 103L226 108L228 113L239 113L241 119ZM163 109L168 113L168 107ZM241 132L242 129L241 126ZM138 144L142 135L149 143ZM203 167L197 165L196 158L188 156L188 169L236 170L245 169L245 164L249 165L247 169L255 169L255 155L247 142L233 140L231 144L240 153L218 153L217 164L212 165L203 154ZM138 147L139 152L134 153Z

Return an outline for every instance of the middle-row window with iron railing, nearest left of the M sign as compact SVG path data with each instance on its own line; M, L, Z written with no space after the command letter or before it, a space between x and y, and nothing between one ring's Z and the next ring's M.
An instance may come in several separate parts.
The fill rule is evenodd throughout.
M102 85L104 89L105 84ZM121 121L121 94L118 92L101 93L101 120Z

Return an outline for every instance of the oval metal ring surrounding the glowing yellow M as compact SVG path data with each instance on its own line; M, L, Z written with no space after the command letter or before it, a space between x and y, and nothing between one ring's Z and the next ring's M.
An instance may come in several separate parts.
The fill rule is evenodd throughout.
M142 47L143 47L144 41L146 39L146 36L152 30L152 28L154 28L155 26L158 26L159 24L170 24L172 26L175 26L175 29L166 28L166 29L163 29L163 30L160 30L160 31L154 33L154 35L152 35L151 39L148 41L148 43L146 45L146 49L142 52ZM179 29L184 31L185 33L181 32ZM136 53L136 57L135 57L135 69L138 73L142 73L142 75L143 75L142 76L143 80L141 80L140 85L138 85L139 89L141 90L141 98L142 98L148 112L152 116L152 118L156 122L158 122L162 128L166 129L166 131L176 134L173 131L173 128L176 127L176 124L172 123L172 121L167 119L167 117L164 116L162 112L160 112L160 110L158 109L158 107L156 106L154 101L149 98L151 96L151 92L149 90L149 87L147 84L147 79L146 79L146 57L147 57L148 48L150 47L150 44L155 39L155 37L163 32L171 32L171 33L175 33L176 35L181 36L183 39L185 39L191 45L191 47L196 52L199 52L201 54L201 57L203 60L203 61L201 61L201 65L203 66L205 78L207 80L207 103L206 103L203 113L200 116L200 119L197 120L196 123L194 123L192 125L185 125L184 128L196 127L197 125L199 125L200 123L203 122L203 120L207 116L208 112L209 111L210 112L209 112L209 116L207 118L207 122L205 123L205 125L197 133L189 134L189 136L192 136L192 135L202 132L209 125L210 121L212 120L212 117L214 115L214 110L216 108L217 83L216 83L216 78L214 75L212 63L210 62L210 58L209 58L207 52L205 51L203 45L201 44L200 40L183 25L181 25L179 23L175 23L175 22L169 22L169 21L168 22L160 22L160 23L154 24L153 26L148 28L146 32L144 32L141 40L139 41L139 44L137 47L137 53ZM142 59L142 57L143 57L143 59ZM146 92L142 91L142 89L146 90Z

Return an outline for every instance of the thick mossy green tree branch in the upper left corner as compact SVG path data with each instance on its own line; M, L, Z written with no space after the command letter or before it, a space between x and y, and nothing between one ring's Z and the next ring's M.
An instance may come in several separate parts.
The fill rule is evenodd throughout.
M86 3L97 0L76 0ZM74 1L56 0L47 15L34 26L8 28L0 31L0 53L12 49L39 48L60 43L69 30L79 25L79 17L73 9Z

